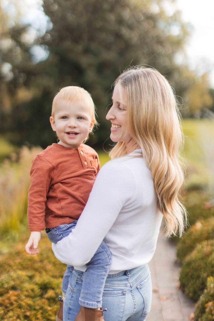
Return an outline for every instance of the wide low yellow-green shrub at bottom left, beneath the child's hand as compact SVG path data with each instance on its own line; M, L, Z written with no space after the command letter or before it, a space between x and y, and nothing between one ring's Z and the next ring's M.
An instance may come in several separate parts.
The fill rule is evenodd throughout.
M65 265L54 256L47 237L39 242L36 256L25 252L26 242L0 257L0 320L54 321Z

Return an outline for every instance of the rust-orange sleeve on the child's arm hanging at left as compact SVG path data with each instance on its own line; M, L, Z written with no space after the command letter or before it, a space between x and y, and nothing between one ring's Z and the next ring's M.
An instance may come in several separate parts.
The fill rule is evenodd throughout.
M30 188L28 193L28 227L30 231L45 229L47 193L53 180L52 164L42 156L37 155L30 169Z

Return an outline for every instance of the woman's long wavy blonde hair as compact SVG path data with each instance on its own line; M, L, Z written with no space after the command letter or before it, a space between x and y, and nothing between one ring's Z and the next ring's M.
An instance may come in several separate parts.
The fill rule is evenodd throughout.
M131 67L120 74L115 84L126 93L129 132L142 149L151 170L165 235L182 235L187 213L179 201L184 183L184 165L180 156L183 132L174 92L157 70ZM124 142L111 150L110 157L126 154Z

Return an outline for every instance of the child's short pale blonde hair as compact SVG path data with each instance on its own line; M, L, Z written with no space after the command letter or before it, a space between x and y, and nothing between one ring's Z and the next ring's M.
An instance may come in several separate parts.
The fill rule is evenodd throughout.
M52 117L54 117L56 103L59 100L64 100L65 102L72 102L72 103L84 101L86 104L88 104L88 107L90 109L90 114L91 114L91 120L94 122L94 126L98 126L98 122L96 120L94 102L91 98L90 93L87 90L77 86L67 86L60 89L60 91L56 93L52 103L52 111L51 111Z

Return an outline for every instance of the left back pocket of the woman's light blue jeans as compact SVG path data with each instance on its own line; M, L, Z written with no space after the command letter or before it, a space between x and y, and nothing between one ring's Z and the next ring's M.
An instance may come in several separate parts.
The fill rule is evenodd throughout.
M125 312L126 291L103 291L102 308L107 308L104 314L106 321L122 321Z

